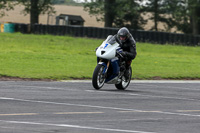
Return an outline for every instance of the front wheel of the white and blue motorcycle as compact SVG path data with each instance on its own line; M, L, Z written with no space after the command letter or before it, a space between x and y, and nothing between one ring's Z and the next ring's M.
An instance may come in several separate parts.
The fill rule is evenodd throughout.
M98 64L94 70L93 77L92 77L92 85L96 90L99 90L103 87L106 76L103 73L105 66Z

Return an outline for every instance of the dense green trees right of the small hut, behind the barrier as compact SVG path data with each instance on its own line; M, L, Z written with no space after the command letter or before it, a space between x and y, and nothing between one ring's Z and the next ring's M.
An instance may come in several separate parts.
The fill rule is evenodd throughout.
M126 26L143 29L148 20L154 22L151 30L160 31L158 24L165 25L165 31L176 28L187 34L200 34L200 0L93 0L84 9L105 27ZM144 19L144 15L151 17Z

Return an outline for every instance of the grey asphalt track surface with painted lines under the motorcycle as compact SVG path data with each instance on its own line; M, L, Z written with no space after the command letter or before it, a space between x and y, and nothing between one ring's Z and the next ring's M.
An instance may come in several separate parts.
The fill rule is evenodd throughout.
M199 81L0 81L0 133L199 132Z

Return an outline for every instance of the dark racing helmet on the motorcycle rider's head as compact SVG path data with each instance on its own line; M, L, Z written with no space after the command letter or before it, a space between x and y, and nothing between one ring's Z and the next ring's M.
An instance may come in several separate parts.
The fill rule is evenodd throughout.
M129 33L129 30L126 27L119 29L119 31L117 32L118 40L121 43L126 42L126 40L129 38L129 36L130 36L130 33Z

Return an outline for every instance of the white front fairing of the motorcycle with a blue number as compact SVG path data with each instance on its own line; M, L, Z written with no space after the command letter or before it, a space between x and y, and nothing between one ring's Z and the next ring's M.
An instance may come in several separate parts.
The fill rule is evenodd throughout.
M119 48L119 44L117 42L110 44L110 38L112 38L112 36L108 36L101 46L99 46L96 51L97 57L110 60L116 56L116 49Z

